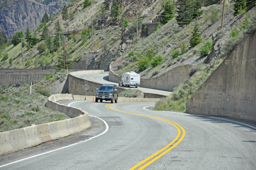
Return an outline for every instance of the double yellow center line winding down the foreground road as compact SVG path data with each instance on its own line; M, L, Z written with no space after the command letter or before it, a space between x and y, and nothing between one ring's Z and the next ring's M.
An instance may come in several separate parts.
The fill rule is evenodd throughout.
M182 126L176 124L175 122L172 122L172 121L166 120L166 119L162 119L162 118L158 118L158 117L155 117L155 116L148 116L148 115L131 113L131 112L125 112L125 111L122 111L122 110L113 109L113 108L110 108L109 105L112 105L112 104L107 104L105 107L108 108L108 109L111 109L111 110L115 110L117 112L129 113L129 114L133 114L133 115L139 115L139 116L144 116L144 117L148 117L148 118L154 118L154 119L162 120L162 121L167 122L168 124L173 125L178 130L178 134L177 134L176 138L174 138L171 143L166 145L161 150L157 151L155 154L153 154L153 155L147 157L146 159L144 159L143 161L139 162L137 165L133 166L129 170L132 170L132 169L144 169L144 168L146 168L151 163L153 163L154 161L158 160L161 156L163 156L166 153L168 153L168 151L172 150L185 137L185 130L184 130L184 128Z

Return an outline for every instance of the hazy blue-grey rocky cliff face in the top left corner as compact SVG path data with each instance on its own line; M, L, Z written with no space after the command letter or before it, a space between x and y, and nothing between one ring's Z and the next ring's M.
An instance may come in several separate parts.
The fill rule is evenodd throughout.
M53 0L50 4L44 5L34 0L1 0L0 28L4 28L8 37L18 31L25 32L27 27L34 32L45 12L48 15L55 14L66 2Z

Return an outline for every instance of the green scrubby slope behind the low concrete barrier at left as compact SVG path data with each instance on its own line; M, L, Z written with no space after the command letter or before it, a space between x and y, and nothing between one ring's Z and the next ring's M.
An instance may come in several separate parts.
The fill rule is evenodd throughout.
M51 95L47 86L56 80L64 80L65 76L63 72L46 76L32 86L31 94L30 85L0 86L0 132L68 119L66 114L45 107Z

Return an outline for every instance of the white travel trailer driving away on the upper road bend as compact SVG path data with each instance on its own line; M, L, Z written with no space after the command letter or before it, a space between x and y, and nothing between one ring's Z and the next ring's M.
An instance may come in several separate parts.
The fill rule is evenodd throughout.
M141 83L141 75L135 72L127 72L124 73L121 79L118 81L119 86L135 86L136 88Z

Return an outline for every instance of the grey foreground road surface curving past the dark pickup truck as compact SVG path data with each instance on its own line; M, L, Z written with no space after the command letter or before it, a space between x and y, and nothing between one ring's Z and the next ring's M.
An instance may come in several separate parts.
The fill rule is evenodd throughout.
M252 122L159 112L155 103L60 103L88 112L92 127L1 156L0 169L256 169Z

